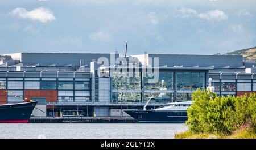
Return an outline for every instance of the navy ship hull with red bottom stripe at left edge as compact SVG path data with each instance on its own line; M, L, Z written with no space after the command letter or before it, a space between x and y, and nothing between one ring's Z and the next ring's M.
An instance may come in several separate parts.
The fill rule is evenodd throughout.
M0 123L28 123L37 103L34 101L0 105Z

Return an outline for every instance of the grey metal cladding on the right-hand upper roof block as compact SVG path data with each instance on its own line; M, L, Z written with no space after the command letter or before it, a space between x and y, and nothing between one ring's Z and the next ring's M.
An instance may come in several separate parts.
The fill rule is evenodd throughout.
M159 57L159 66L214 66L218 67L241 67L243 66L242 55L184 55L184 54L149 54L148 57L154 60Z

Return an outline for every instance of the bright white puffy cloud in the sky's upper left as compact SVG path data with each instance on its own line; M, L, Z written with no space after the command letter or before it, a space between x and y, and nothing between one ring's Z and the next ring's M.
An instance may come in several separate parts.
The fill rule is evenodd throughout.
M10 12L10 14L13 16L18 16L20 18L35 20L42 23L47 23L55 20L55 16L53 16L52 11L44 7L35 8L31 11L27 11L25 8L15 8Z

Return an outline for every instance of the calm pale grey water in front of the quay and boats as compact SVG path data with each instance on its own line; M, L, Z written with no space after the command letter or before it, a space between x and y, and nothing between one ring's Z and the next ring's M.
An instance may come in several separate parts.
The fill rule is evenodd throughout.
M0 123L0 138L174 138L187 130L170 123Z

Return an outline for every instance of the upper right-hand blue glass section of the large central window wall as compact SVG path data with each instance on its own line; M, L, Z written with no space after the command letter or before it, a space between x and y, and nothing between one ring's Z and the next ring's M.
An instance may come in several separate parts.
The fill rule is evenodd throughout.
M196 90L205 88L204 72L177 72L177 90Z

